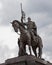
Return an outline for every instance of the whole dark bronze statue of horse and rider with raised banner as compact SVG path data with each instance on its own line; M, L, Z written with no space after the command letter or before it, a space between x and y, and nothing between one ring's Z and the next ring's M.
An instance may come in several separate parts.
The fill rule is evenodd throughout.
M21 13L22 13L21 22L18 20L14 20L11 22L15 32L18 33L18 29L20 31L20 38L18 39L19 56L28 55L26 53L26 45L28 45L30 55L32 55L33 50L35 56L41 58L43 44L41 37L37 34L37 26L35 22L31 21L30 17L27 18L28 21L26 23L23 22L23 20L25 21L25 13L22 10L22 4ZM36 51L37 48L38 53Z

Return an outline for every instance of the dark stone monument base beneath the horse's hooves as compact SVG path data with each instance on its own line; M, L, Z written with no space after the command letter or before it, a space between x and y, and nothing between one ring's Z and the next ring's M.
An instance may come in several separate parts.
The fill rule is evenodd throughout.
M52 65L44 59L36 58L35 56L26 55L15 58L10 58L5 63L0 65Z

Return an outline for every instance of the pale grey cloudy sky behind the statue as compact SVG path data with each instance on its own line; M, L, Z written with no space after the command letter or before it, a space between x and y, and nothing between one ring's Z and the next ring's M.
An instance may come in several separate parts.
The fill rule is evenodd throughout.
M0 0L0 63L18 56L18 37L10 22L20 20L20 3L26 18L36 22L43 41L42 57L52 62L52 0Z

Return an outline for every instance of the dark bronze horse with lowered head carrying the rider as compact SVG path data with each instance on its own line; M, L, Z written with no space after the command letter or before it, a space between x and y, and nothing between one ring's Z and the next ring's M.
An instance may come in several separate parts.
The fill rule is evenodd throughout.
M36 57L37 57L36 49L39 48L38 57L41 58L41 56L42 56L42 48L43 48L41 37L39 35L37 35L37 37L35 36L35 40L33 40L31 38L30 32L24 27L24 25L22 23L20 23L18 20L14 20L11 23L12 23L12 26L13 26L15 32L18 32L18 29L19 29L19 31L21 33L20 34L20 39L18 41L18 44L19 44L19 56L27 55L27 53L26 53L26 45L28 45L30 55L32 54L31 53L31 46L32 46L33 52L34 52Z

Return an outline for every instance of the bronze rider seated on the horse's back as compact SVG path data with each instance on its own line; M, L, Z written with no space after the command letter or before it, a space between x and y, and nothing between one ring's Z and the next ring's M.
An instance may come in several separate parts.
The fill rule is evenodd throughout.
M28 17L28 22L24 23L24 25L27 26L27 30L31 33L33 39L34 39L34 35L37 36L37 26L35 24L35 22L31 21L31 18Z

